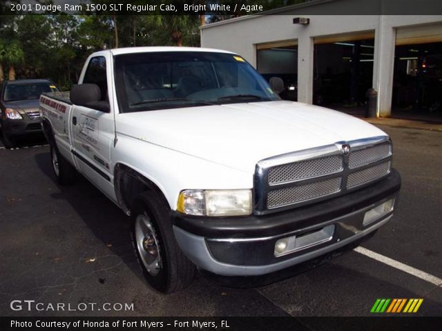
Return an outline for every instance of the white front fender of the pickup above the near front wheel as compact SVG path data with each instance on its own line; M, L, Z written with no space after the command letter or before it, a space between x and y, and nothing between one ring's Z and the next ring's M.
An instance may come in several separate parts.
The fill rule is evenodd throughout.
M115 165L126 165L154 183L171 210L176 210L178 195L182 190L253 188L253 173L128 136L118 137L111 159L114 171Z

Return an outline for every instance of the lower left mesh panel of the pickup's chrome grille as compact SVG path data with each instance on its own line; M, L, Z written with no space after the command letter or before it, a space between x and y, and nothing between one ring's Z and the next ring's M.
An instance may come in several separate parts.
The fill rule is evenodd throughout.
M267 208L276 208L308 199L324 197L340 190L340 177L315 181L291 188L281 188L267 194Z

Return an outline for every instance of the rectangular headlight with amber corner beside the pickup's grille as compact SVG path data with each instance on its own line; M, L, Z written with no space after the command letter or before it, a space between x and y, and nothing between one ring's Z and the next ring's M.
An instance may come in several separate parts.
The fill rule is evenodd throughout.
M249 215L251 200L251 190L184 190L177 211L197 216Z

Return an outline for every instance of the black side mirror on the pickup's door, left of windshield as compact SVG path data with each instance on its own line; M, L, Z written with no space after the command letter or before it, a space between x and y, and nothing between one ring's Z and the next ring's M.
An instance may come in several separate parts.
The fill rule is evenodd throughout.
M70 101L77 106L111 112L111 106L108 101L102 101L102 91L96 84L74 85L70 89Z

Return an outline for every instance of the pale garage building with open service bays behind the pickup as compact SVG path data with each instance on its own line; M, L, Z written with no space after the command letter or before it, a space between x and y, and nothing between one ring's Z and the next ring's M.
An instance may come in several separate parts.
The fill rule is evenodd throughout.
M354 6L355 1L361 6L370 2L336 2L338 6L352 2ZM392 104L396 103L406 106L407 102L439 102L437 92L428 96L419 86L431 83L432 79L442 81L441 15L314 14L318 8L323 12L330 4L315 1L265 15L208 24L201 28L201 44L204 48L241 54L264 76L293 74L300 102L320 103L325 97L332 102L336 95L347 103L356 102L363 99L366 88L374 88L378 93L378 117L390 117ZM309 22L294 23L297 17L308 18ZM405 48L402 50L401 46ZM395 59L399 51L405 53L400 58L396 54ZM439 54L431 60L436 64L425 71L425 61L433 59L433 53ZM395 70L401 68L403 74L397 72L401 78L396 82ZM407 84L411 87L407 88ZM338 90L339 85L348 85L348 89Z

